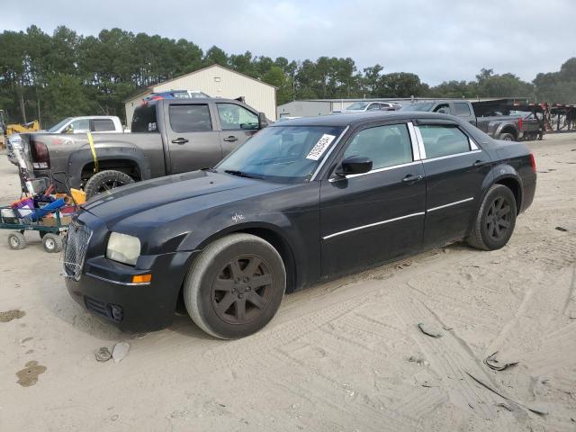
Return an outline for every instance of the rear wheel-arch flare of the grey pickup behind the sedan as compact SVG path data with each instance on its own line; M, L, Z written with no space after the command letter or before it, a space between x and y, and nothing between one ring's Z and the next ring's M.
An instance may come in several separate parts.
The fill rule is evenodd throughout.
M103 160L128 160L138 166L142 180L151 178L150 164L142 149L135 146L126 147L99 147L96 145L96 157ZM79 148L68 157L70 186L79 188L82 183L82 170L84 166L94 162L94 157L89 147Z

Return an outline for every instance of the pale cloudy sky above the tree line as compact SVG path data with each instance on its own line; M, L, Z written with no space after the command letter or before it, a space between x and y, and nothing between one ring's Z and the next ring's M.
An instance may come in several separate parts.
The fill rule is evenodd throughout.
M4 3L5 2L5 3ZM532 81L576 57L574 0L4 0L0 31L159 34L228 54L353 58L358 70L412 72L430 85L482 67Z

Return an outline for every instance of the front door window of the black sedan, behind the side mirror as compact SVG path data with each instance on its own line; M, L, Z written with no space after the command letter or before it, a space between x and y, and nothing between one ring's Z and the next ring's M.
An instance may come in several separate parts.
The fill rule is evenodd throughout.
M351 156L370 157L372 169L412 162L408 126L387 124L360 130L344 152L344 158Z

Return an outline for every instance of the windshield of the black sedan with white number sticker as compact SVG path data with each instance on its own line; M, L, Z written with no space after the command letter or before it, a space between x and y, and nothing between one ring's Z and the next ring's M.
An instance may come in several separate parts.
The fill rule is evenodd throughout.
M232 175L302 183L342 133L343 127L275 126L260 130L215 169Z

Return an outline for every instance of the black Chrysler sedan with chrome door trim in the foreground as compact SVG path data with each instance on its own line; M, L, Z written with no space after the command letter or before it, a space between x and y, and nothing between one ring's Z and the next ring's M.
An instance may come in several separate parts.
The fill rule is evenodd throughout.
M218 166L97 195L70 226L67 289L121 329L217 338L266 326L284 293L465 238L506 245L536 189L525 144L428 112L275 124Z

